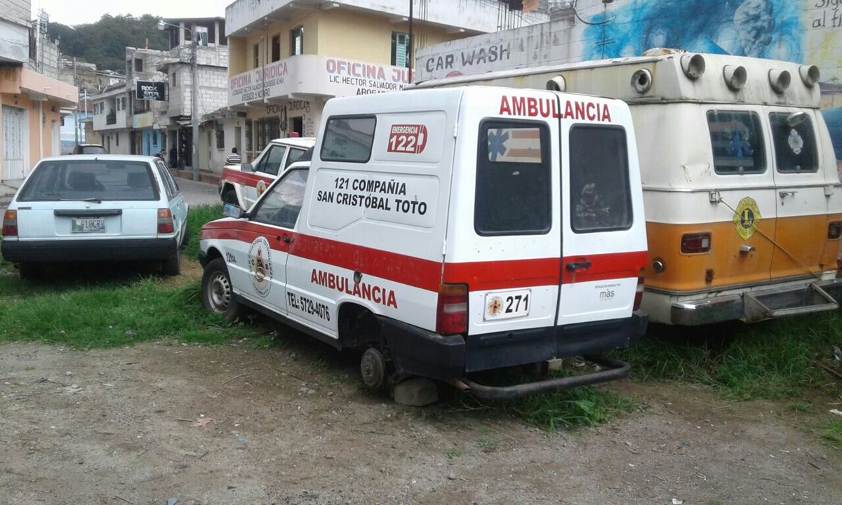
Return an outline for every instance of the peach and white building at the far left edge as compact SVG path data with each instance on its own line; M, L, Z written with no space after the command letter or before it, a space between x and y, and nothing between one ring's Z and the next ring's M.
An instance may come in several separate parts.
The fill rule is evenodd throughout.
M29 20L29 0L0 0L0 181L24 178L43 157L61 153L62 109L78 90L59 81L58 49L46 16Z

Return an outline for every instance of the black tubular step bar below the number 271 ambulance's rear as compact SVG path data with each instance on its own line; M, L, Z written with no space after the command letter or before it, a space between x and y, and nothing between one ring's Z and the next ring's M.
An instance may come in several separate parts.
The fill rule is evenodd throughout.
M468 387L468 392L478 398L484 400L512 400L520 396L554 393L583 385L594 385L602 382L610 382L611 380L624 379L632 371L630 364L619 359L605 358L605 356L589 356L586 359L599 364L603 369L585 375L538 380L536 382L527 382L518 385L482 385L467 379L462 379L461 382Z

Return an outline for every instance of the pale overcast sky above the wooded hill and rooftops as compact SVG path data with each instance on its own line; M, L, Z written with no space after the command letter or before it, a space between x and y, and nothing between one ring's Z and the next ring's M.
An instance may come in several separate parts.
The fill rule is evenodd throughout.
M234 0L32 0L33 19L39 9L50 14L53 23L83 24L112 16L152 14L163 18L204 18L225 16Z

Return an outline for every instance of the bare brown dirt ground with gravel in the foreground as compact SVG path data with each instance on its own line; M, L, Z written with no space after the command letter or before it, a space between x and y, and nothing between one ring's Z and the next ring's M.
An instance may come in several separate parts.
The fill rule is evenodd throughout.
M611 387L643 407L546 433L370 396L317 344L5 344L0 503L842 502L842 451L810 429L832 420L828 399L805 414L690 385Z

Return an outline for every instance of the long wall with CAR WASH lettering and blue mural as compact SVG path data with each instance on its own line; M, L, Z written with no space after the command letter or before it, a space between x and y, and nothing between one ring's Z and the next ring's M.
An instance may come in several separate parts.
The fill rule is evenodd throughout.
M653 47L812 64L821 69L824 117L842 159L838 0L578 0L548 7L549 23L419 50L418 78L642 56ZM489 57L493 51L502 57Z

